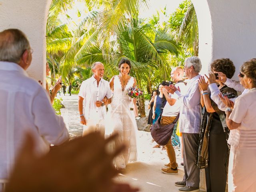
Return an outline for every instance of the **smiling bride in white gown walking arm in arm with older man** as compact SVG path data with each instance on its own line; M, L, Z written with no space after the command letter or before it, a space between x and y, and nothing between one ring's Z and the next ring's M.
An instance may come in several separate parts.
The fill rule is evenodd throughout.
M137 124L134 112L130 110L130 97L127 95L129 87L136 86L136 79L129 75L131 63L127 59L122 59L118 64L119 75L113 76L110 80L110 89L113 91L110 110L108 111L108 119L111 121L108 126L112 127L112 132L119 134L114 141L113 147L116 148L120 144L126 144L126 149L115 159L117 169L124 169L128 162L137 160L136 148L136 130Z

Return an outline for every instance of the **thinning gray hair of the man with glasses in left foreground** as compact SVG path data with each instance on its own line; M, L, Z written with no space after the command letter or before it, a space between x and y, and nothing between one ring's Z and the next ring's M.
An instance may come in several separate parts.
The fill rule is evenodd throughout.
M0 32L0 61L18 63L29 48L28 39L22 31L7 29Z

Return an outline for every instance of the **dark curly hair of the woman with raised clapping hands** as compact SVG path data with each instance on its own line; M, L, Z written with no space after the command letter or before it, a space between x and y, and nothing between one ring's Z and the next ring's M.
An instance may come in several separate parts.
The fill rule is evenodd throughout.
M211 71L222 72L231 79L236 71L233 62L229 58L216 59L211 63Z

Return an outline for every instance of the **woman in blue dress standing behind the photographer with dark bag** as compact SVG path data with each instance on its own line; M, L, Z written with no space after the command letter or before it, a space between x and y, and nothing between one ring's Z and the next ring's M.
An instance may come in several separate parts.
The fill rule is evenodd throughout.
M158 86L158 95L154 98L154 105L152 111L153 124L156 123L157 119L162 114L164 106L166 104L166 98L163 94L163 88L164 86L162 84ZM160 148L160 145L156 144L153 148ZM163 146L162 149L165 150L165 146Z

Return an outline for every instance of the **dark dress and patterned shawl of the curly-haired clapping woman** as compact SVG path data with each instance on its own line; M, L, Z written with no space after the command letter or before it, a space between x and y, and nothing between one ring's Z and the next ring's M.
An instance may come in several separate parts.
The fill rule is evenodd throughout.
M220 88L220 92L223 95L231 96L231 98L237 96L237 92L226 85ZM216 112L208 113L205 107L202 110L196 164L199 168L205 168L207 192L225 192L230 150L227 142L229 130L226 126L222 126L222 122L226 122L225 112L220 111L213 100L211 102Z

